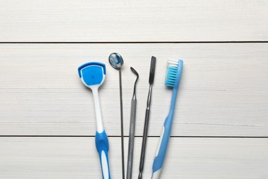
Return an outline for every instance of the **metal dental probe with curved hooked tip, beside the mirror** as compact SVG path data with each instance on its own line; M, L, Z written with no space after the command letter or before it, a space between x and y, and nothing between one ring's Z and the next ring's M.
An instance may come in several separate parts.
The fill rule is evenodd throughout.
M126 169L126 179L132 178L132 166L133 166L133 152L134 152L134 139L135 139L135 122L136 122L136 107L137 107L137 99L136 99L136 85L137 80L139 79L139 74L137 71L131 67L131 71L137 76L134 84L133 97L131 100L131 123L129 127L129 154L128 154L128 163Z

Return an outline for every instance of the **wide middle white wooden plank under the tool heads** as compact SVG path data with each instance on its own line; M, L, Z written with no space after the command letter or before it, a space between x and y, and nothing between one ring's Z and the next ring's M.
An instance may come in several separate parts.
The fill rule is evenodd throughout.
M100 89L107 134L120 135L118 71L111 52L124 57L124 134L129 134L134 74L136 135L141 136L150 56L157 56L149 135L159 136L171 90L166 59L184 59L172 136L268 136L267 43L245 44L1 44L1 135L90 135L96 130L93 99L78 78L88 61L107 64Z

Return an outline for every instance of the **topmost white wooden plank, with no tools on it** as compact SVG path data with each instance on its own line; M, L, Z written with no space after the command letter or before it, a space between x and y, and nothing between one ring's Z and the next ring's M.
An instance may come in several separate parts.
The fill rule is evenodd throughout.
M0 1L0 41L268 41L268 1Z

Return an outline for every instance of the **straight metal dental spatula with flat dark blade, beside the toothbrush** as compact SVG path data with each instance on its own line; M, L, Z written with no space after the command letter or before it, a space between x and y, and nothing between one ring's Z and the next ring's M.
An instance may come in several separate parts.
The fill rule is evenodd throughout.
M147 107L146 107L146 114L145 114L145 121L144 121L144 135L142 138L142 153L140 155L139 160L139 179L142 179L142 171L144 170L144 159L145 159L145 150L146 150L146 140L148 134L148 123L149 123L149 114L150 114L150 99L152 95L152 88L153 88L153 80L155 78L155 63L156 58L152 56L150 60L150 76L149 76L149 92L147 98Z

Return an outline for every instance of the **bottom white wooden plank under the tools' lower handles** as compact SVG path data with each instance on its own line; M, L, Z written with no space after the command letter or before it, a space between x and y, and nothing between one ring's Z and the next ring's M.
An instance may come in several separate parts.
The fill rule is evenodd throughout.
M126 145L127 145L127 140ZM158 138L148 138L150 178ZM120 138L110 138L112 178L121 177ZM137 178L142 138L135 139ZM266 178L267 138L171 138L162 178ZM0 138L0 178L101 178L94 138Z

